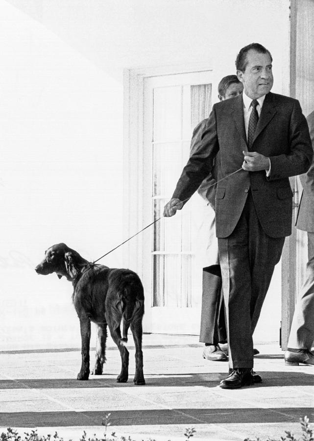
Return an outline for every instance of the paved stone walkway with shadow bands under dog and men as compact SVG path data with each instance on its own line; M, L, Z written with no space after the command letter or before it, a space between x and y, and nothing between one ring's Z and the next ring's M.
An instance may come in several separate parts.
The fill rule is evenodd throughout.
M120 357L108 341L102 376L75 380L80 351L75 349L1 352L0 432L7 427L23 434L38 428L65 441L101 437L103 417L111 413L108 434L132 440L184 440L194 427L193 440L280 438L285 430L300 436L299 418L314 422L314 367L288 367L278 344L256 344L255 370L263 383L239 390L218 387L226 362L202 358L196 336L144 335L146 386L135 386L134 347L130 340L130 377L116 383ZM93 353L92 359L93 359Z

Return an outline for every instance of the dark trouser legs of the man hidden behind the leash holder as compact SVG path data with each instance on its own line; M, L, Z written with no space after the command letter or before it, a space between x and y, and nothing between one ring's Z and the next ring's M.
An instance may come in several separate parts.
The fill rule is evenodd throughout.
M221 271L219 265L203 268L202 313L199 341L217 344L227 340Z

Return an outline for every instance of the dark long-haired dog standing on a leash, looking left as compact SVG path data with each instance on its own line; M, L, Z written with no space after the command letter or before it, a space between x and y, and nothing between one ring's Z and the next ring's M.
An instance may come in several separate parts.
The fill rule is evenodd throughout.
M142 319L144 289L139 276L125 269L112 269L83 259L65 244L52 245L45 259L35 268L38 274L55 272L73 285L72 300L80 321L82 366L78 380L88 380L90 374L91 321L97 325L96 364L92 374L101 375L106 360L107 325L121 354L119 383L128 379L129 352L125 347L130 327L135 343L134 383L145 384L143 374ZM121 337L122 322L122 337Z

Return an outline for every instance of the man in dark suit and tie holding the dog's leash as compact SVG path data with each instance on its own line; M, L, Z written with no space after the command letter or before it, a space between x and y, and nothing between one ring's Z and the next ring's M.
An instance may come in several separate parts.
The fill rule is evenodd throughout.
M285 237L291 234L289 177L306 172L313 150L296 99L270 92L272 57L262 45L236 60L242 96L214 104L164 216L173 216L211 172L219 151L216 235L226 306L229 376L225 389L254 383L252 333Z

